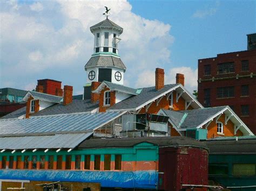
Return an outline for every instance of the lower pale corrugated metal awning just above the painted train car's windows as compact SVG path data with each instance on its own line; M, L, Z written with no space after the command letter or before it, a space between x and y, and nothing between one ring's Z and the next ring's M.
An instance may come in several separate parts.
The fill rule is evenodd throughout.
M0 149L74 148L93 133L69 133L47 136L0 137Z

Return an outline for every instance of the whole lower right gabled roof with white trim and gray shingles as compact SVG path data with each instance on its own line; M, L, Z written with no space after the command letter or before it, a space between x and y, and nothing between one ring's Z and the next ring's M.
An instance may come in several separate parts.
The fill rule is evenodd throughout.
M241 125L240 130L244 135L253 135L251 130L241 121L241 119L228 106L200 108L193 110L170 111L161 109L158 114L169 116L170 123L174 125L176 130L186 130L189 128L201 128L203 125L212 121L215 117L225 114L230 116L230 120L234 124Z

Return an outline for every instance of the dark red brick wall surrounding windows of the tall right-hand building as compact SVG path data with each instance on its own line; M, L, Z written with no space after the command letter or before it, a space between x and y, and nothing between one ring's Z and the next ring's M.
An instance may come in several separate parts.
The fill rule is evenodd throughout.
M241 61L249 61L249 71L241 71ZM217 74L218 63L234 62L234 73ZM211 75L204 75L204 66L211 65ZM204 89L210 89L210 106L233 105L234 112L256 133L256 50L218 54L215 58L198 60L198 100L204 105ZM237 76L238 75L238 76ZM246 76L247 75L247 76ZM212 78L214 77L214 81ZM209 80L210 79L210 80ZM207 81L208 80L208 81ZM249 96L241 96L241 86L249 86ZM234 97L217 98L217 88L234 87ZM249 105L249 116L242 117L241 105Z

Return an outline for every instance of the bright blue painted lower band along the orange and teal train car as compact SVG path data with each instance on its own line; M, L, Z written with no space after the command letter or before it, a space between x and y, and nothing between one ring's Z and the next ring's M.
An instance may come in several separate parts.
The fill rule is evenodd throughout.
M0 179L30 181L99 182L102 187L155 189L156 171L51 171L51 170L0 170Z

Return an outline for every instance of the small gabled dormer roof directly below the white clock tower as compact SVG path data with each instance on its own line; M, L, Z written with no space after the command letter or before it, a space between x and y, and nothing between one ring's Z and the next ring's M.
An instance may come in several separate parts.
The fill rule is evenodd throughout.
M110 90L113 91L121 91L123 93L126 94L131 94L131 95L138 95L140 91L138 91L138 89L133 89L133 88L129 88L120 84L116 84L116 83L111 83L111 82L107 82L107 81L103 81L96 90L92 91L93 93L100 93L100 91L102 89L104 89L104 87L108 87Z

